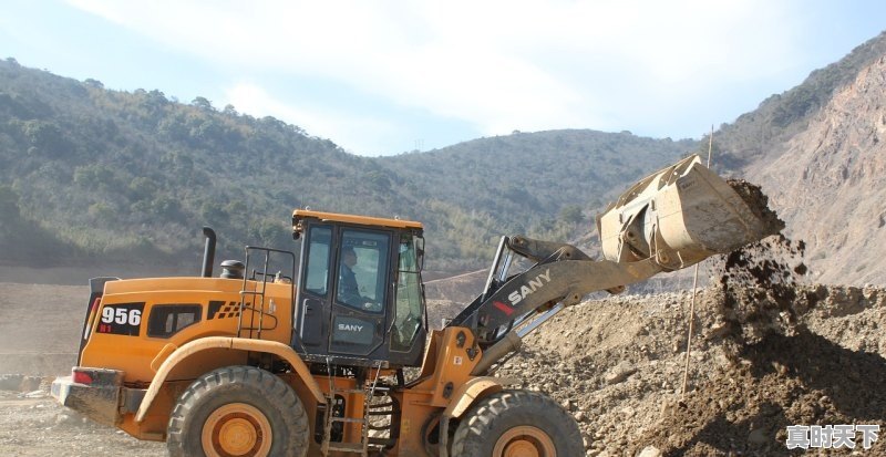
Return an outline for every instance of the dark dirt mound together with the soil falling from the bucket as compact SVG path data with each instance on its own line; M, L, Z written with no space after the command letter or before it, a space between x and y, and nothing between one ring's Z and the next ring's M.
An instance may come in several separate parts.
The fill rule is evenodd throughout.
M730 185L767 228L784 228L759 187ZM617 454L790 455L787 427L801 425L853 427L847 440L825 438L828 445L846 445L836 454L848 454L857 444L872 447L866 455L886 455L883 446L873 448L876 436L854 429L886 424L886 393L877 387L886 375L879 342L848 342L843 333L827 331L837 315L882 311L882 292L804 285L805 248L779 233L720 259L707 301L715 323L702 351L719 352L725 363L707 365L712 368L707 378L679 401L666 399L653 425ZM883 318L852 321L852 328L869 332ZM814 445L815 436L810 437Z

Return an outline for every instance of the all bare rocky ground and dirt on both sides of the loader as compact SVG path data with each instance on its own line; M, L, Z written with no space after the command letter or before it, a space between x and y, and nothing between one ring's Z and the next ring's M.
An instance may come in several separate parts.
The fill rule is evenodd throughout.
M567 407L589 456L804 455L786 448L789 425L886 426L886 290L789 281L795 294L784 308L753 281L739 293L721 280L697 297L686 395L690 291L567 309L496 375ZM89 423L47 394L70 365L85 295L84 287L0 283L0 373L16 373L0 376L0 454L164 455L163 444ZM854 455L886 456L886 443L855 443Z

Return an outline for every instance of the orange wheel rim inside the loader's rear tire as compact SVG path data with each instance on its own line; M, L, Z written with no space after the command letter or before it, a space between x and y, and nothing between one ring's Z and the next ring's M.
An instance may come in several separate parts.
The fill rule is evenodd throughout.
M214 411L203 425L203 449L209 457L267 456L270 420L253 405L230 403Z

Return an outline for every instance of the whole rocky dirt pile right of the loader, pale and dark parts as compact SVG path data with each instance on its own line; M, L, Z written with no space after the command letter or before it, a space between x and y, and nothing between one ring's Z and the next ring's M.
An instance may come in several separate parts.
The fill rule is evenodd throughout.
M886 427L886 290L799 287L807 294L818 300L791 335L766 331L730 346L721 289L700 291L682 403L690 292L567 309L496 375L570 409L588 456L635 457L650 446L664 456L787 456L787 425ZM886 455L886 444L864 455Z

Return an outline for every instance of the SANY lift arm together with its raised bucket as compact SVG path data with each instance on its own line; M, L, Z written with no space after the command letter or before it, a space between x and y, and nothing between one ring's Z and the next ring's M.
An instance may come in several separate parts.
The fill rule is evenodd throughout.
M606 259L567 243L503 237L483 293L450 325L475 331L484 354L473 374L485 373L525 334L590 292L618 293L773 235L764 211L764 202L745 201L690 156L636 183L597 218ZM521 257L535 264L509 276Z

